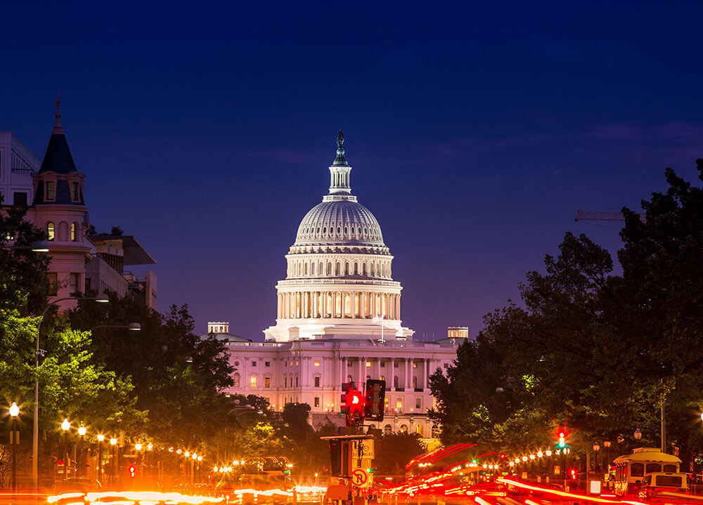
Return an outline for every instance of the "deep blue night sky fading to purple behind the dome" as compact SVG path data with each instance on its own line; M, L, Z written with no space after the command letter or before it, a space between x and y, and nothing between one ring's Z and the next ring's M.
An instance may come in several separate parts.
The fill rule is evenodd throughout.
M475 334L567 230L615 251L576 209L703 157L697 1L143 4L4 6L0 129L43 156L60 92L91 222L138 238L198 332L274 323L340 128L419 339Z

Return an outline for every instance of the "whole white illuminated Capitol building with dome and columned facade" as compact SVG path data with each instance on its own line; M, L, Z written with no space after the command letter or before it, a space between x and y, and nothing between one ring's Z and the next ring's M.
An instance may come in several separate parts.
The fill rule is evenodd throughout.
M463 339L414 341L402 325L393 256L376 218L352 195L343 144L340 131L329 193L304 216L285 256L288 273L276 284L276 324L264 330L265 341L229 334L226 322L209 323L208 334L227 341L236 368L230 393L262 396L279 411L304 402L314 428L343 426L342 383L382 379L385 419L366 424L433 438L428 379L449 367Z

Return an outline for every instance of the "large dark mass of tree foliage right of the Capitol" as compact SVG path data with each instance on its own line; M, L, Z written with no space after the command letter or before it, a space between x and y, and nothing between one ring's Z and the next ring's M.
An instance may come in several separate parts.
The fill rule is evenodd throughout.
M659 445L663 402L669 442L699 447L703 191L671 169L666 182L643 200L644 219L624 209L621 275L606 249L567 233L520 303L486 315L447 376L432 376L445 442L524 450L569 426L575 442L640 428Z

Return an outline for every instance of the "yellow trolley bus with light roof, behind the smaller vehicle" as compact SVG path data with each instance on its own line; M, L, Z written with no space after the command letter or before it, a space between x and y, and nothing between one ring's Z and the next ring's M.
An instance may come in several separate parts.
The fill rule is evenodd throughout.
M681 459L666 454L657 447L640 447L632 454L613 460L615 467L615 494L638 494L647 473L678 472Z

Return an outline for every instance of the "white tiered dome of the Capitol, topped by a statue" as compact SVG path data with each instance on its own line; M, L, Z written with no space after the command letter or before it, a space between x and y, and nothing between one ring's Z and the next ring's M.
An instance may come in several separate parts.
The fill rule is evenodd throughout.
M330 166L330 190L305 214L285 255L278 281L276 325L266 341L408 339L400 318L402 287L393 280L393 256L378 221L356 201L344 158L344 132Z

